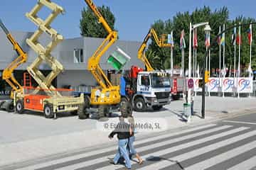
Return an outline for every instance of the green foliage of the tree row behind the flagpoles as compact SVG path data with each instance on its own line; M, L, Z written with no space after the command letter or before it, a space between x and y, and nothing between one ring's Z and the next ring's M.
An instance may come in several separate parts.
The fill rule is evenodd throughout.
M210 55L210 67L218 68L219 67L219 46L217 44L217 35L219 32L219 26L223 30L223 24L225 23L225 28L230 28L234 26L235 23L241 22L250 23L255 22L253 18L244 18L239 16L235 20L229 20L229 11L228 8L223 7L219 10L211 11L208 6L203 8L196 8L192 13L176 13L176 16L167 21L155 21L151 26L156 30L156 33L160 36L163 33L171 33L171 30L174 31L174 65L181 65L181 50L179 48L179 41L181 36L181 30L185 30L185 40L186 40L186 49L185 49L185 67L188 67L188 38L189 38L189 23L202 23L208 21L210 23L210 43L211 43L211 55ZM198 49L197 49L197 60L200 65L203 64L203 57L206 55L205 42L205 33L203 26L197 29L198 34ZM241 45L241 66L247 69L247 65L250 62L250 45L247 40L247 30L249 26L241 27L242 35L242 45ZM256 33L256 26L252 26L252 33ZM238 33L238 28L237 28ZM233 34L233 28L228 30L225 33L225 63L228 68L230 64L234 65L234 46L231 43L231 37ZM252 69L256 69L256 47L255 40L252 41ZM149 45L149 50L153 50L160 57L161 64L165 69L170 68L170 49L169 48L159 48L154 41ZM193 48L192 48L193 50ZM222 54L223 57L223 54ZM236 67L238 67L238 45L236 51ZM149 60L150 61L150 60ZM221 64L222 65L222 64Z

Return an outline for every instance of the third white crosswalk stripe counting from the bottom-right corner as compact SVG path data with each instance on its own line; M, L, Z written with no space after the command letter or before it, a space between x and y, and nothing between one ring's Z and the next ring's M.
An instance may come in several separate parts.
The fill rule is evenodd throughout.
M256 130L253 130L251 132L247 132L245 134L238 135L238 136L235 136L235 137L231 137L228 140L223 140L223 141L217 142L217 143L215 143L213 145L208 145L208 146L202 147L200 149L195 149L195 150L193 150L191 152L187 152L185 154L178 155L177 157L170 157L168 159L169 160L175 160L176 162L183 162L186 159L191 159L191 158L196 157L198 155L205 154L205 153L213 151L213 150L215 150L217 148L224 147L226 145L230 145L230 144L232 144L234 142L238 142L240 140L244 140L247 137L251 137L251 136L254 136L254 135L256 135ZM154 154L154 153L152 153L152 155L154 155L154 157L160 157L162 154ZM164 160L164 161L158 162L156 164L151 164L149 166L144 166L142 169L143 170L144 169L147 169L147 170L150 170L150 169L163 169L166 166L171 166L173 164L176 164L176 162L170 162L170 161ZM142 170L142 169L139 169L139 170Z

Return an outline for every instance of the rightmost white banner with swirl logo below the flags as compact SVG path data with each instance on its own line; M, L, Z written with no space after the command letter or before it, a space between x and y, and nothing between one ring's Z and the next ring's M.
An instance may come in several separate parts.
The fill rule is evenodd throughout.
M252 93L252 78L248 78L248 77L238 78L238 92Z

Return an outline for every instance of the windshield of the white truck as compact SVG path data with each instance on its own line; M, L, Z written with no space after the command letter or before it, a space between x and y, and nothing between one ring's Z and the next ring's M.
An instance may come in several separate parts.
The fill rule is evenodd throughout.
M151 74L151 80L154 88L171 87L168 75Z

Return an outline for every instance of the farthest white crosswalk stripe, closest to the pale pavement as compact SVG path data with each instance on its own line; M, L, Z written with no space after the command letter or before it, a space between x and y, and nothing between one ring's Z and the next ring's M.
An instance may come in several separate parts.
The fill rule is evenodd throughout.
M152 142L154 140L161 140L161 139L164 139L164 138L167 138L167 137L173 137L175 135L182 135L182 134L185 134L185 133L188 133L188 132L194 132L196 130L203 130L203 129L206 129L206 128L213 128L215 126L216 126L216 124L202 125L202 126L199 126L199 127L196 127L196 128L182 130L181 132L173 132L171 134L164 134L164 135L159 135L159 136L156 136L156 137L149 137L149 138L147 138L145 140L139 140L135 144L136 145L140 145L140 144L143 144L143 143L146 143L146 142ZM217 127L217 129L214 128L214 129L207 130L206 132L208 132L208 133L209 132L214 132L215 130L216 131L217 130L223 130L225 128L230 128L230 127L231 126L226 125L226 126L222 126L222 127ZM203 134L206 134L206 133L200 132L200 133L197 133L197 134L203 135ZM191 135L190 137L196 137L196 135ZM188 138L190 138L190 137L188 137ZM178 140L176 140L176 141L178 141ZM164 143L162 143L162 145L163 144ZM116 150L116 149L117 149L116 146L108 147L108 148L105 148L105 149L95 150L95 151L87 152L87 153L84 153L84 154L78 154L78 155L71 156L71 157L65 157L63 159L57 159L57 160L53 160L53 161L50 161L50 162L45 162L45 163L42 163L42 164L36 164L36 165L33 165L33 166L26 166L26 167L18 169L18 170L40 169L40 168L43 168L45 166L49 166L49 165L53 165L53 164L61 164L63 162L68 162L70 160L80 159L82 157L90 157L90 156L93 156L95 154L102 154L102 153L110 152L110 151L113 151L113 150ZM113 157L113 156L111 155L111 157ZM92 160L87 162L87 166L90 166L92 164L97 164L97 163L100 163L100 162L108 161L107 158L108 157L104 157L103 159L102 158L98 158L98 159L96 159L96 162L95 162L95 159L92 159ZM65 169L68 169L68 167L65 167Z

